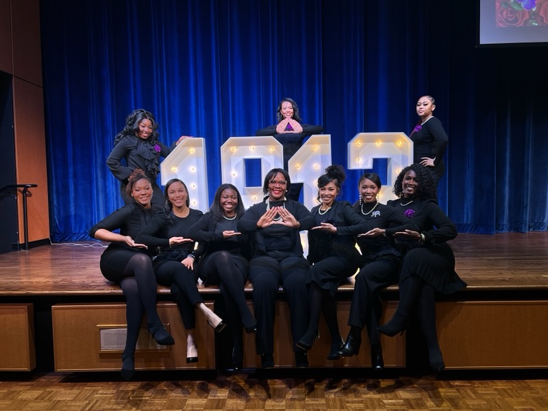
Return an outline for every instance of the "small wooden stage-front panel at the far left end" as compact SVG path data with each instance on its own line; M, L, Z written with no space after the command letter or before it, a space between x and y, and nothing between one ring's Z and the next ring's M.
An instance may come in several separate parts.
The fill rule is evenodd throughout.
M0 304L0 370L31 371L36 367L32 304Z

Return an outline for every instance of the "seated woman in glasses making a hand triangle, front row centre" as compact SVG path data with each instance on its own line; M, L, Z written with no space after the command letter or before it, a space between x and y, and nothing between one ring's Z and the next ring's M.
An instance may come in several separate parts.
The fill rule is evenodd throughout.
M268 195L238 221L238 232L255 236L249 279L253 284L256 346L262 368L274 366L275 300L280 284L286 292L294 343L308 327L306 275L310 265L303 257L299 232L312 228L314 216L298 201L286 198L290 186L289 174L284 169L266 173L263 192ZM297 346L293 351L297 366L308 366L306 351Z

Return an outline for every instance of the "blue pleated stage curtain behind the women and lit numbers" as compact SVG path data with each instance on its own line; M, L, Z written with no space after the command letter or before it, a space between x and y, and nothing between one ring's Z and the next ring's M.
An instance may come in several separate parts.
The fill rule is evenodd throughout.
M274 124L282 97L345 165L358 132L409 134L424 94L449 135L438 198L460 232L546 230L547 48L477 49L475 18L435 0L41 2L51 238L87 238L121 206L105 159L134 108L166 144L206 138L212 199L219 147Z

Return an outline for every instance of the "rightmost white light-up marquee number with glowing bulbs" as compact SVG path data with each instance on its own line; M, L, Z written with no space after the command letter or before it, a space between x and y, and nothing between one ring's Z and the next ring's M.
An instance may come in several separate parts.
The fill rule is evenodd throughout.
M413 162L413 142L403 133L360 133L348 143L348 168L373 169L373 159L388 159L379 201L393 199L392 188L400 171Z

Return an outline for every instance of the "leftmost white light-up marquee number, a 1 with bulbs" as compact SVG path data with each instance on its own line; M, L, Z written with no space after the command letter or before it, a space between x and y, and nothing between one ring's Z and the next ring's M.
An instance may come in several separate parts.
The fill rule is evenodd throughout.
M185 138L160 163L162 186L172 178L184 181L188 188L190 207L208 210L208 165L206 140L201 137Z

